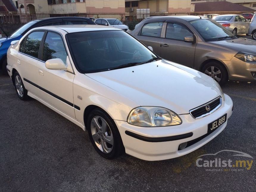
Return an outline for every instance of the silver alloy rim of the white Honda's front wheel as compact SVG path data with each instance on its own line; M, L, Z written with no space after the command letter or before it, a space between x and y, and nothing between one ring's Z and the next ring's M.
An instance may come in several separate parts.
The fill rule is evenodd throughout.
M100 116L91 120L91 134L96 146L103 153L110 153L113 149L113 134L107 122Z

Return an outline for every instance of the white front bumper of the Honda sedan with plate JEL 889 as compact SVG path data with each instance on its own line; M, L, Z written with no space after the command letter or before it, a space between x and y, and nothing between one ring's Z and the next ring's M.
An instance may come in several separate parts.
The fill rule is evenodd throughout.
M207 134L208 124L215 121L225 113L227 113L228 119L232 115L232 107L233 102L231 98L225 95L225 102L222 102L221 107L211 115L205 116L201 119L194 119L190 114L179 115L182 119L182 124L177 126L138 127L128 124L126 121L118 120L115 120L115 123L119 129L125 147L125 152L127 154L148 161L165 160L193 152L215 138L226 127L227 121L200 141L186 147L185 149L178 150L179 144L195 140ZM147 141L135 138L129 134L127 135L127 132L140 135L149 140ZM154 141L155 139L158 140L161 138L179 137L179 135L184 137L178 139L175 138L175 140L172 139L172 141Z

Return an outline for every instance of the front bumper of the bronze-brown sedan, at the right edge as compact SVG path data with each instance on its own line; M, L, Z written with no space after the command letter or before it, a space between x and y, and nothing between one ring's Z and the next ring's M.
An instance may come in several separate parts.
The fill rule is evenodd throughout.
M244 62L236 57L230 61L223 61L228 69L229 80L232 81L255 81L253 72L256 73L256 62Z

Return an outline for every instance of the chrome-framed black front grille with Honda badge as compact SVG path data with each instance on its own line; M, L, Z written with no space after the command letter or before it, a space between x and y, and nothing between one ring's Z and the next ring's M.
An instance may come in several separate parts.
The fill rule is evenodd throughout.
M214 111L216 111L221 106L221 97L217 97L216 99L213 99L212 101L203 104L199 107L196 107L194 109L191 109L189 113L192 115L193 118L199 119L206 115L210 115Z

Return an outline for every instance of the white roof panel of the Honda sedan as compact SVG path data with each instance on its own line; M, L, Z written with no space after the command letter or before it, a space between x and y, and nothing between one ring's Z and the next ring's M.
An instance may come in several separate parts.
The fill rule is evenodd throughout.
M67 33L84 32L84 31L107 31L107 30L121 30L116 27L104 26L104 25L56 25L56 26L43 26L36 27L35 29L51 29L60 31L63 30ZM123 30L121 30L123 31Z

